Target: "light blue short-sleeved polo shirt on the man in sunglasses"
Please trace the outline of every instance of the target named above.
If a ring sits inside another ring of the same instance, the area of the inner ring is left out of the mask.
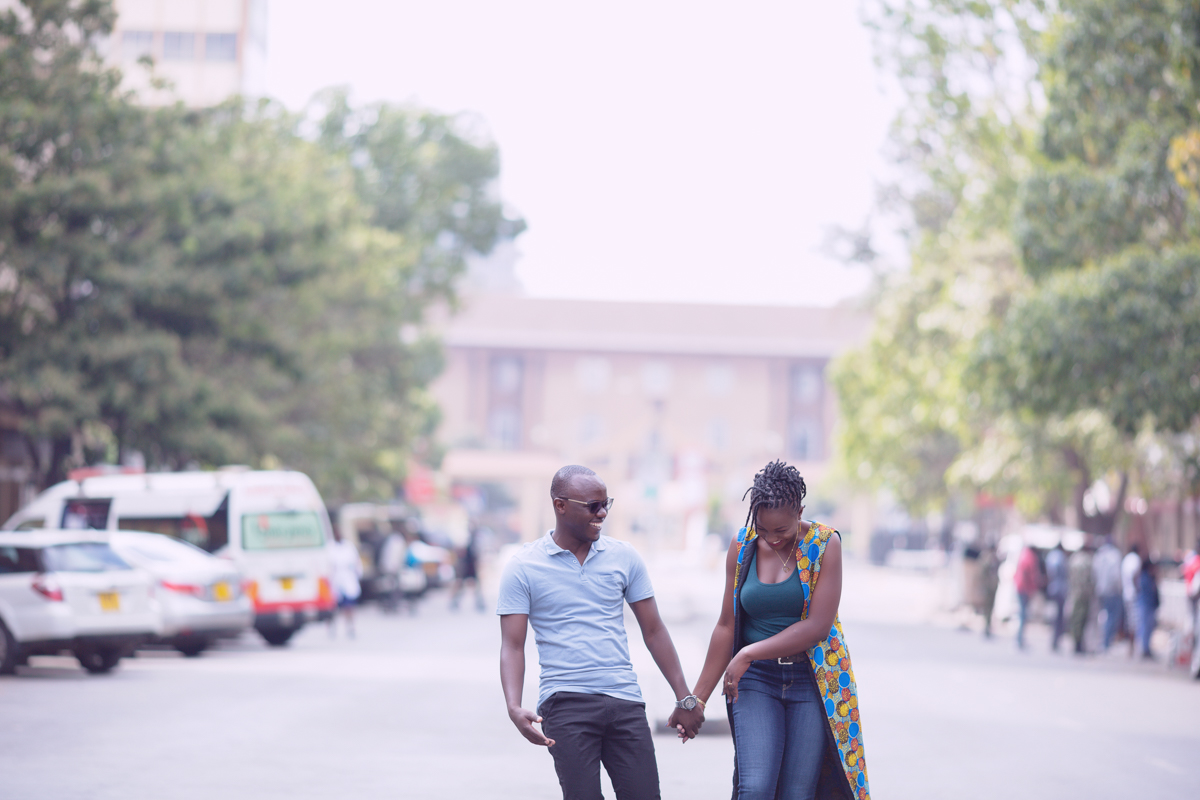
[[[632,545],[601,535],[580,565],[553,531],[526,543],[500,578],[497,614],[528,614],[538,643],[538,705],[554,692],[642,702],[629,661],[625,602],[654,596]]]

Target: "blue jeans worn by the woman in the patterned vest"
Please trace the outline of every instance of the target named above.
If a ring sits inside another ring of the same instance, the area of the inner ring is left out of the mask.
[[[811,667],[751,662],[731,708],[738,800],[814,798],[829,742],[829,720]]]

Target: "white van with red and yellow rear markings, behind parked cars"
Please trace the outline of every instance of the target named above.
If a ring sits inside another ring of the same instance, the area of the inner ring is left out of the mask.
[[[272,645],[286,644],[306,621],[329,619],[336,607],[329,515],[302,473],[222,469],[64,481],[4,524],[35,528],[144,530],[228,558],[246,578],[254,627]]]

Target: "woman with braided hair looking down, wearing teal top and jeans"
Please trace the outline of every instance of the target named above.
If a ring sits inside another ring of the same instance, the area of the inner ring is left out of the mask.
[[[838,621],[840,535],[802,518],[805,493],[799,471],[782,462],[755,475],[694,692],[707,700],[721,682],[736,800],[870,798],[858,690]]]

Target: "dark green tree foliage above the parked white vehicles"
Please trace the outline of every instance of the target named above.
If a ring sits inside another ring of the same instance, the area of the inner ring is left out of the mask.
[[[436,420],[425,311],[522,227],[494,146],[344,95],[312,136],[270,102],[144,108],[96,54],[112,23],[0,13],[0,402],[42,480],[139,451],[390,494]]]

